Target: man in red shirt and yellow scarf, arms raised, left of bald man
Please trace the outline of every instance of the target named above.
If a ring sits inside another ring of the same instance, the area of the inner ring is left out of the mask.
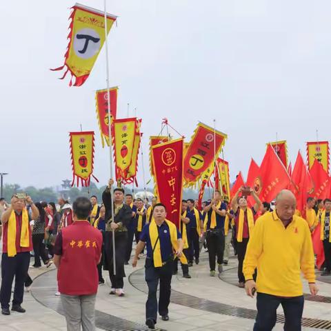
[[[234,212],[234,225],[236,227],[239,288],[245,287],[243,259],[245,259],[248,239],[250,239],[250,234],[254,228],[254,216],[261,208],[261,201],[252,188],[250,188],[250,195],[254,198],[255,204],[253,208],[248,208],[245,197],[239,197],[239,194],[243,191],[244,188],[241,186],[231,201]]]

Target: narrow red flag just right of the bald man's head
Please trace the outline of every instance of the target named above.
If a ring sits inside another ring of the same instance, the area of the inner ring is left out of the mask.
[[[310,192],[312,188],[313,186],[310,174],[308,173],[307,167],[303,162],[301,152],[298,152],[297,160],[295,161],[292,173],[290,190],[292,190],[297,199],[297,209],[300,210],[303,217],[305,217],[308,192]]]

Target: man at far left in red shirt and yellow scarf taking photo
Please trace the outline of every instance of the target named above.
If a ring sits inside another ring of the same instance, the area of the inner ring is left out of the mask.
[[[32,250],[30,216],[28,210],[26,210],[26,204],[31,207],[32,219],[37,219],[39,210],[31,198],[19,199],[17,195],[12,197],[10,208],[3,212],[1,217],[3,224],[3,248],[0,301],[1,313],[3,315],[10,315],[9,302],[14,276],[15,289],[12,310],[26,312],[21,307],[21,303],[23,302],[24,282],[28,277],[30,251]]]

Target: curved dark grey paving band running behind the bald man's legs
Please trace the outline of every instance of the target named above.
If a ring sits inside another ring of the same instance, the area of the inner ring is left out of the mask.
[[[143,275],[144,268],[132,272],[129,276],[129,282],[132,286],[134,286],[134,288],[137,288],[137,290],[148,293],[148,288]],[[240,317],[242,319],[255,319],[257,316],[257,310],[239,308],[226,303],[202,299],[194,297],[190,294],[178,292],[176,290],[171,291],[170,301],[172,303],[176,303],[177,305],[184,305],[185,307],[204,310],[206,312],[214,312],[216,314]],[[281,314],[277,314],[277,323],[285,323],[285,317]],[[326,321],[323,319],[309,319],[307,317],[303,317],[301,325],[308,328],[331,330],[331,321]]]

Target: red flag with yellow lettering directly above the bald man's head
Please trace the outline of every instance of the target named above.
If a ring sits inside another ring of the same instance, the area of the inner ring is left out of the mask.
[[[260,166],[261,201],[272,201],[279,191],[288,187],[290,177],[281,159],[271,145],[268,145]]]

